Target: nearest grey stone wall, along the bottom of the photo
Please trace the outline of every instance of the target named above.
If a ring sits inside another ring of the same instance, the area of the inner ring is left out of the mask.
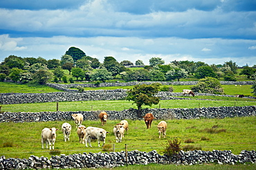
[[[1,156],[0,169],[81,169],[113,168],[125,164],[245,164],[256,163],[255,151],[241,151],[239,155],[231,151],[180,151],[173,158],[161,156],[156,151],[125,151],[110,153],[79,153],[66,156],[30,156],[28,159]]]

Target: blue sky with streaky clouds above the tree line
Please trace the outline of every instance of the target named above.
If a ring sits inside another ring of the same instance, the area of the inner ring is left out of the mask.
[[[256,0],[1,0],[0,62],[61,59],[69,47],[104,61],[152,57],[256,65]]]

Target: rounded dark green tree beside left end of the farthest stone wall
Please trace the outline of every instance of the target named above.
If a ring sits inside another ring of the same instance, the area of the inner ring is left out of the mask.
[[[39,83],[40,85],[45,85],[48,80],[51,80],[53,74],[48,70],[38,70],[33,74],[33,81]]]

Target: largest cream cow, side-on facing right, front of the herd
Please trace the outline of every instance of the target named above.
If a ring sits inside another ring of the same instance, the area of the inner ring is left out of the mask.
[[[85,146],[87,146],[87,142],[89,142],[89,145],[91,147],[91,139],[98,139],[98,147],[100,147],[100,141],[103,141],[103,145],[106,141],[106,134],[109,134],[108,131],[105,131],[102,128],[99,127],[87,127],[85,130]]]

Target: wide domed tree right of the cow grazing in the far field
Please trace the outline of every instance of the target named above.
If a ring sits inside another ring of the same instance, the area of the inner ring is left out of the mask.
[[[217,78],[205,77],[199,80],[195,86],[191,87],[193,92],[208,93],[208,94],[223,94],[221,83]]]

